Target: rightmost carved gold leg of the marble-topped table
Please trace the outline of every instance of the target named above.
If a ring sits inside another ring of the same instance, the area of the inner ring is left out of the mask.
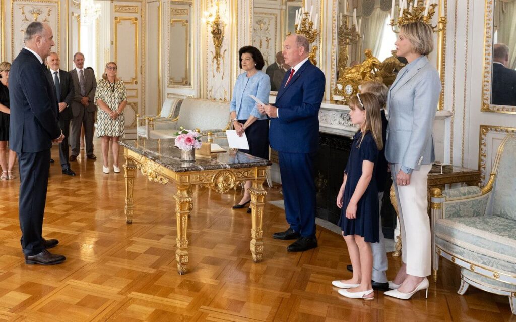
[[[251,253],[254,263],[262,262],[263,254],[263,206],[267,191],[263,189],[263,179],[254,179],[253,186],[249,188],[251,193]]]

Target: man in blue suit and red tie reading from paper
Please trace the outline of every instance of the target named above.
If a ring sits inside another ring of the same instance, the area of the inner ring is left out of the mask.
[[[319,109],[325,76],[308,59],[310,43],[301,35],[285,39],[283,57],[292,66],[278,89],[275,106],[260,106],[270,117],[270,147],[278,151],[286,220],[290,227],[272,235],[297,239],[287,247],[302,252],[317,247],[314,159],[319,144]]]

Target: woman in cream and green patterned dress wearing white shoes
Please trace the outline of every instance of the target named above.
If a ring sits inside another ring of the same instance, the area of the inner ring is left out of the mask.
[[[101,138],[103,172],[109,173],[108,153],[109,141],[113,155],[113,170],[120,172],[118,167],[118,154],[120,146],[118,141],[125,134],[124,109],[127,105],[127,93],[124,82],[117,78],[117,64],[109,62],[99,81],[95,93],[95,102],[98,108],[97,136]]]

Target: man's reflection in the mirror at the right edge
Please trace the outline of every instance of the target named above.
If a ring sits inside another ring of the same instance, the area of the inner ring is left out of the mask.
[[[509,65],[509,47],[503,43],[493,46],[493,87],[491,104],[516,106],[516,70]]]

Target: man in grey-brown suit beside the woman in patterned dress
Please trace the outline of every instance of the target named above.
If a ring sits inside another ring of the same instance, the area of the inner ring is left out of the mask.
[[[75,161],[80,152],[80,127],[84,125],[86,158],[96,160],[93,154],[93,128],[95,126],[94,104],[96,80],[93,71],[84,68],[84,55],[75,53],[73,55],[75,68],[70,71],[75,95],[72,102],[72,130],[71,145],[72,155],[70,161]]]

